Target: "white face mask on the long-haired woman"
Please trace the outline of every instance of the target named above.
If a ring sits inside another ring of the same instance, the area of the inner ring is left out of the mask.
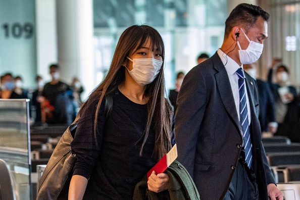
[[[133,62],[132,70],[128,70],[130,76],[137,82],[139,85],[146,85],[152,83],[154,79],[159,74],[163,61],[156,59],[130,59]]]

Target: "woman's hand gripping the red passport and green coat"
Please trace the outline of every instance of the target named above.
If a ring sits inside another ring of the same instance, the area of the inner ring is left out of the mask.
[[[161,192],[168,189],[168,174],[158,174],[156,175],[155,171],[152,172],[151,176],[148,179],[148,189],[154,192]]]

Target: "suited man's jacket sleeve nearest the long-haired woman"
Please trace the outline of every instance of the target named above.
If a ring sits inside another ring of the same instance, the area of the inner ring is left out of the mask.
[[[204,76],[194,67],[184,77],[177,98],[175,138],[178,161],[193,177],[196,143],[206,107],[206,83]]]

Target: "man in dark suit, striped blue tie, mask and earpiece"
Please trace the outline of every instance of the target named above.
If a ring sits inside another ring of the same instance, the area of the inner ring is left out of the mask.
[[[178,161],[201,199],[283,199],[261,142],[257,85],[242,70],[259,59],[268,18],[260,7],[238,5],[226,20],[221,48],[183,80],[175,118]]]

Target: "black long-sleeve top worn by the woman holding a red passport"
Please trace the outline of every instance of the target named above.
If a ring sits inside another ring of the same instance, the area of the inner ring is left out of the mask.
[[[119,90],[112,94],[113,109],[105,119],[102,102],[94,138],[94,113],[100,94],[84,108],[71,143],[77,155],[73,175],[89,178],[84,199],[132,199],[137,182],[155,164],[151,156],[155,133],[152,124],[139,156],[147,121],[147,105],[135,104]],[[97,143],[97,145],[96,145]],[[172,145],[175,143],[172,129]]]

